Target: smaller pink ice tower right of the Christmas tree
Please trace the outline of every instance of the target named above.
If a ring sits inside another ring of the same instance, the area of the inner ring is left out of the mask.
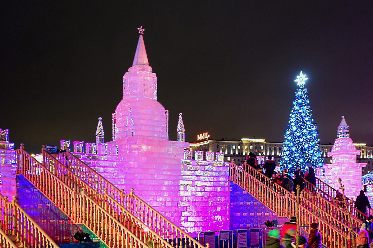
[[[332,151],[327,155],[332,157],[332,164],[325,164],[323,167],[330,186],[339,189],[338,178],[340,177],[345,186],[345,195],[349,198],[356,198],[361,190],[361,168],[367,164],[356,162],[356,156],[360,155],[360,151],[356,150],[350,138],[350,126],[347,126],[344,116],[338,126],[338,135]]]

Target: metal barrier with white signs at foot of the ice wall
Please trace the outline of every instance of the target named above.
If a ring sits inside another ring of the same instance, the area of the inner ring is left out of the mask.
[[[261,228],[200,232],[197,241],[209,243],[210,248],[264,248],[264,232]]]

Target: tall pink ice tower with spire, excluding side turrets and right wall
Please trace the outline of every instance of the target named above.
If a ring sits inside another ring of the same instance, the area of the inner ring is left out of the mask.
[[[181,216],[181,160],[189,143],[168,140],[168,111],[157,102],[157,76],[142,35],[132,67],[123,76],[123,99],[113,113],[112,131],[113,141],[105,144],[117,147],[120,161],[107,159],[90,166],[125,193],[134,188],[151,206]]]

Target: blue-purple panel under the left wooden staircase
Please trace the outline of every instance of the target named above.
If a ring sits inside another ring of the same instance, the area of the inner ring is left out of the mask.
[[[58,207],[36,189],[23,175],[17,175],[18,204],[50,236],[56,244],[70,244],[75,232],[86,232],[94,242],[98,239],[86,226],[72,222]],[[100,242],[100,248],[107,248]]]

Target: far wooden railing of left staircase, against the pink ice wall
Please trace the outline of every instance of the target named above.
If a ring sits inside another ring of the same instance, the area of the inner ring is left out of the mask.
[[[177,244],[173,243],[173,240],[175,238],[180,238],[184,240],[185,244],[189,244],[189,247],[193,242],[196,248],[204,248],[197,240],[135,195],[133,189],[131,189],[131,193],[129,194],[123,194],[123,190],[119,190],[69,151],[55,154],[53,157],[56,157],[58,161],[62,162],[73,174],[81,178],[81,180],[87,183],[91,188],[97,190],[97,193],[107,193],[113,200],[116,200],[116,202],[124,206],[142,223],[145,223],[145,225],[153,229],[153,231],[158,232],[164,239],[171,241],[173,246],[177,246]],[[107,188],[107,191],[105,188]]]

